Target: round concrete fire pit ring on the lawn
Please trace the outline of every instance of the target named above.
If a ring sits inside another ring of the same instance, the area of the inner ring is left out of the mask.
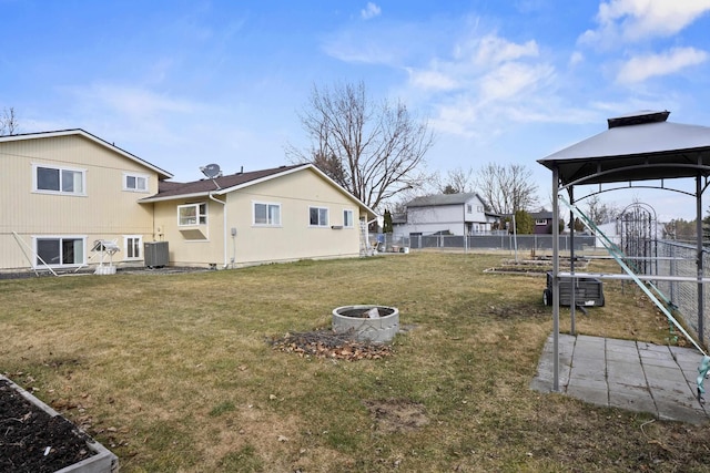
[[[343,306],[333,309],[333,331],[353,331],[361,341],[390,341],[399,330],[399,310],[386,306]]]

